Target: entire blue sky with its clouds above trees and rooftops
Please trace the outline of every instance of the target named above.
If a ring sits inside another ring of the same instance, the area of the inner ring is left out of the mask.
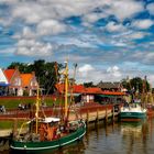
[[[154,0],[0,0],[0,67],[68,58],[77,81],[154,86]]]

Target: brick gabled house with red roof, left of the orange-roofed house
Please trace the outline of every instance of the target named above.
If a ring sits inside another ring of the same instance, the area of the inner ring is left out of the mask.
[[[18,68],[3,70],[9,82],[9,95],[22,96],[21,77]]]

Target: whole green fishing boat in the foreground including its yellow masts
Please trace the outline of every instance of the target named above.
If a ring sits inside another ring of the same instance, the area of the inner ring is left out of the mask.
[[[22,124],[19,133],[11,141],[12,151],[22,151],[25,153],[44,152],[44,150],[54,150],[69,145],[82,139],[86,133],[86,124],[82,120],[68,120],[67,106],[67,88],[68,88],[68,66],[65,68],[65,116],[57,117],[40,117],[40,98],[35,103],[35,117]],[[28,131],[22,133],[25,125]]]

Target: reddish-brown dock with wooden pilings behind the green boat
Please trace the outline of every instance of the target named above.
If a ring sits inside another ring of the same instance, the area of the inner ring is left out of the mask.
[[[44,113],[47,117],[58,117],[59,108],[45,108]],[[84,106],[76,106],[70,108],[69,111],[69,121],[76,119],[82,119],[88,123],[96,122],[98,123],[100,120],[103,120],[108,123],[108,119],[114,121],[114,117],[118,117],[119,112],[114,112],[113,105],[98,105],[98,103],[89,103]],[[0,121],[13,121],[14,125],[18,120],[30,120],[30,118],[34,116],[30,110],[21,111],[21,110],[10,110],[6,113],[0,114]],[[0,130],[0,138],[8,138],[14,131],[14,128]]]

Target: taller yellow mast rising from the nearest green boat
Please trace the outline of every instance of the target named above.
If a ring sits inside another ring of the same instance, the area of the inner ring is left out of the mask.
[[[65,118],[67,118],[68,111],[68,63],[65,66]]]

